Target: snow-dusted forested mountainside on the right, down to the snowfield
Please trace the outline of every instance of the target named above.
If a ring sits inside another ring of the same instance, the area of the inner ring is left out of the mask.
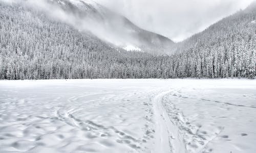
[[[254,78],[256,2],[174,45],[183,77]]]

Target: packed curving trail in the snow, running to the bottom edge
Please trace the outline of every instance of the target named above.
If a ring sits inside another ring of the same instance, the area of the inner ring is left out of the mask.
[[[178,127],[170,120],[168,113],[162,105],[163,96],[168,93],[170,91],[162,92],[153,99],[156,121],[156,144],[154,152],[183,153],[186,152],[183,138],[179,134]]]

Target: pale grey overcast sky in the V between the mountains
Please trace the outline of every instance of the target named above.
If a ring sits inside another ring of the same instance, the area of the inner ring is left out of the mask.
[[[210,24],[253,0],[94,0],[118,12],[139,27],[176,42],[206,29]]]

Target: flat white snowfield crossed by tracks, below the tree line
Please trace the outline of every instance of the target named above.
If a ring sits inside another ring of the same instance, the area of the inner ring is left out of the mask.
[[[0,81],[0,152],[255,152],[256,80]]]

